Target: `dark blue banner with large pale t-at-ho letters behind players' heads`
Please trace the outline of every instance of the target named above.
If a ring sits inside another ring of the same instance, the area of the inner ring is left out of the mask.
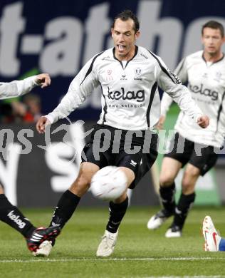
[[[124,9],[140,20],[137,44],[161,56],[171,70],[182,57],[202,49],[206,21],[217,19],[225,25],[222,0],[1,0],[0,81],[49,73],[51,88],[44,94],[38,88],[34,92],[41,95],[43,113],[50,112],[81,66],[112,47],[110,25]],[[71,117],[97,119],[100,94],[97,88]]]

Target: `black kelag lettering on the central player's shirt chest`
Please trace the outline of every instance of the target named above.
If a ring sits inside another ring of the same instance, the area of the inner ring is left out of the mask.
[[[108,98],[112,100],[136,100],[138,103],[145,101],[145,90],[128,91],[125,92],[125,88],[121,88],[121,91],[112,91],[110,92],[110,88],[108,87]]]

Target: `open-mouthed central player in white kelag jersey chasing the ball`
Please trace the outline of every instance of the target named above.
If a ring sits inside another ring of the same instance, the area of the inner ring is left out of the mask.
[[[196,121],[202,128],[209,124],[209,118],[203,115],[187,88],[168,71],[161,58],[135,45],[140,31],[139,22],[132,11],[123,11],[116,16],[111,31],[115,47],[91,58],[75,76],[61,103],[36,124],[38,132],[43,133],[46,125],[65,118],[85,101],[93,88],[101,86],[100,120],[83,149],[85,155],[78,177],[61,196],[51,220],[51,225],[61,228],[73,215],[80,197],[88,191],[93,175],[100,168],[117,166],[125,173],[127,188],[134,188],[151,168],[157,157],[157,134],[152,132],[160,115],[157,86],[177,101],[192,118],[190,120]],[[148,139],[151,135],[152,139],[145,140],[145,135]],[[147,147],[145,141],[148,142]],[[107,144],[108,148],[105,148]],[[145,152],[144,145],[147,148]],[[98,152],[99,148],[102,151]],[[134,149],[138,150],[134,152]],[[127,190],[110,202],[110,218],[96,253],[98,257],[112,254],[127,205]]]

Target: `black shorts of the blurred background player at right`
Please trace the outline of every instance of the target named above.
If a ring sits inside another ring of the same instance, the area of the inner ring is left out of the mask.
[[[199,168],[200,174],[204,175],[214,165],[218,155],[214,152],[214,147],[194,143],[183,138],[179,133],[175,133],[170,141],[170,153],[164,155],[165,158],[174,158],[182,163],[182,167],[187,163]]]

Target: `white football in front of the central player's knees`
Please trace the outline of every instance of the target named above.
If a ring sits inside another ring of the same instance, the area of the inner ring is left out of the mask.
[[[90,183],[90,191],[101,200],[115,200],[125,192],[127,177],[116,166],[106,166],[98,170]]]

